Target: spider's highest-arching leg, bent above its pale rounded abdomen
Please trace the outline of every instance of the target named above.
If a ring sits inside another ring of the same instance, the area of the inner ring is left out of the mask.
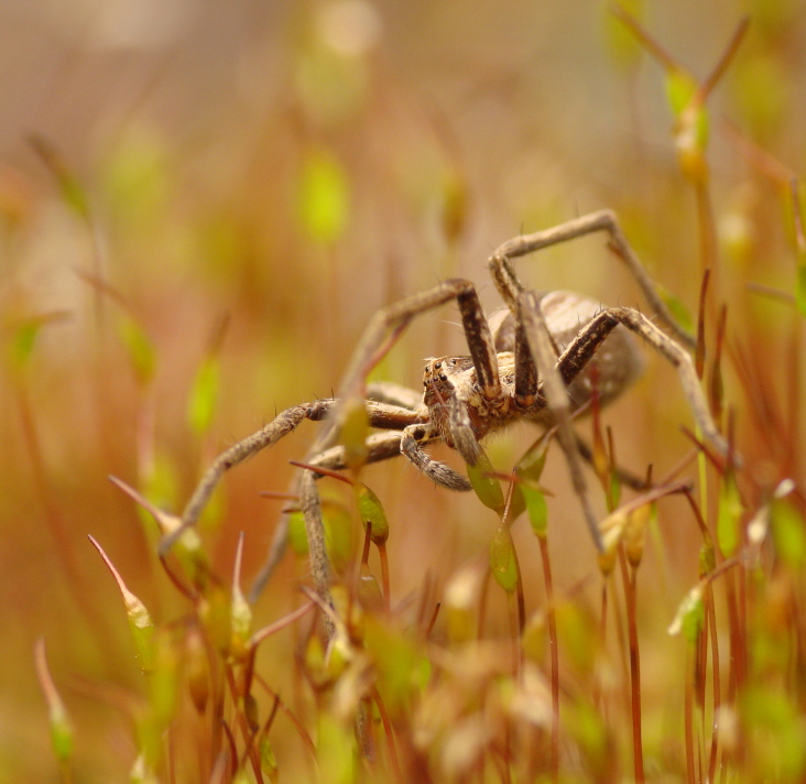
[[[646,302],[652,306],[658,318],[674,333],[680,342],[689,348],[694,348],[696,340],[679,325],[666,303],[661,298],[654,281],[650,277],[641,260],[628,242],[616,213],[609,209],[584,215],[580,218],[568,220],[545,231],[515,237],[504,242],[490,257],[488,265],[492,274],[492,280],[501,294],[501,298],[507,303],[510,311],[512,313],[515,312],[518,297],[524,292],[524,286],[512,265],[512,259],[596,231],[607,231],[610,238],[610,247],[627,264],[627,268],[646,297]]]

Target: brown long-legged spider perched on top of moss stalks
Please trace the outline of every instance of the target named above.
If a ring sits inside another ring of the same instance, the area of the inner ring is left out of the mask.
[[[627,264],[666,331],[630,307],[602,308],[571,292],[538,295],[515,274],[513,259],[584,235],[606,231],[610,248]],[[162,543],[165,553],[182,532],[194,525],[226,470],[274,445],[303,420],[325,421],[305,464],[340,470],[350,459],[338,444],[340,429],[356,406],[363,406],[370,426],[381,432],[366,440],[366,462],[405,456],[426,477],[449,490],[471,489],[466,477],[432,459],[425,448],[442,440],[465,461],[476,465],[479,442],[516,421],[556,425],[574,489],[593,542],[601,548],[598,521],[590,505],[580,451],[570,416],[591,400],[592,360],[601,403],[621,394],[640,374],[642,338],[678,371],[683,392],[706,440],[720,454],[728,445],[717,429],[702,394],[690,350],[694,338],[674,319],[655,285],[628,243],[616,215],[601,210],[553,229],[520,236],[502,244],[489,259],[492,280],[507,308],[487,319],[472,283],[448,280],[433,288],[379,311],[356,348],[336,399],[302,403],[283,411],[257,433],[224,451],[202,478],[182,516],[182,525]],[[423,394],[394,384],[368,388],[367,375],[417,316],[456,301],[469,356],[427,361]],[[540,371],[538,371],[540,368]],[[295,482],[305,516],[314,582],[328,595],[329,567],[325,551],[319,496],[314,470],[302,470]],[[287,523],[287,511],[284,514]],[[284,549],[285,527],[275,533],[271,556],[255,582],[253,596]]]

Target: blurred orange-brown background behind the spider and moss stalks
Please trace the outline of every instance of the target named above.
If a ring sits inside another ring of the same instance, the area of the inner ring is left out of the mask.
[[[776,301],[748,283],[792,288],[782,183],[806,163],[806,4],[631,10],[697,80],[750,14],[709,96],[708,189],[717,302],[731,303],[729,331],[753,379],[729,373],[728,396],[754,476],[770,484],[782,459],[803,464],[758,436],[766,420],[742,413],[747,390],[778,401],[797,440],[803,379],[791,378]],[[109,781],[133,759],[127,706],[141,676],[87,534],[159,620],[184,611],[154,531],[109,475],[181,510],[222,448],[331,394],[379,307],[461,275],[492,311],[491,251],[591,210],[614,209],[653,276],[696,314],[702,214],[675,148],[665,69],[603,2],[4,0],[0,31],[0,781],[53,776],[32,663],[40,636],[77,722],[80,780]],[[603,238],[519,270],[537,290],[646,307]],[[377,377],[417,389],[424,358],[465,352],[457,320],[451,306],[420,318]],[[653,462],[662,476],[690,446],[679,431],[690,416],[674,372],[647,360],[606,421],[625,466]],[[280,505],[258,493],[285,490],[287,461],[316,427],[228,478],[203,534],[220,574],[240,531],[244,581],[261,565]],[[509,470],[534,437],[523,427],[497,438],[493,464]],[[428,575],[444,585],[483,564],[495,518],[477,499],[401,460],[366,479],[392,523],[396,601]],[[595,553],[556,455],[545,484],[557,590],[578,590]],[[696,579],[684,511],[663,507],[655,543],[679,570],[644,577],[660,635]],[[538,556],[525,529],[514,533],[532,609]],[[304,570],[286,559],[255,608],[262,622],[294,606]],[[290,645],[261,654],[270,680]]]

